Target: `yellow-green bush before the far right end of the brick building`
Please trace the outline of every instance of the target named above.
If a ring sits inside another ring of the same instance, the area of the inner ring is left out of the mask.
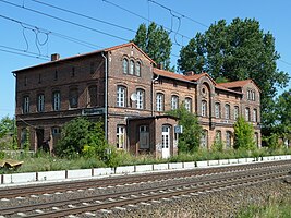
[[[234,123],[234,145],[235,149],[242,148],[253,150],[256,148],[254,141],[254,128],[247,123],[243,117],[239,117]]]

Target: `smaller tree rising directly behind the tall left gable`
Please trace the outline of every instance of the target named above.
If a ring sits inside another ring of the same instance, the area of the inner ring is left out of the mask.
[[[165,70],[170,70],[172,43],[168,32],[162,26],[157,26],[156,23],[151,22],[147,28],[146,24],[141,24],[132,41],[157,64],[161,63]]]

